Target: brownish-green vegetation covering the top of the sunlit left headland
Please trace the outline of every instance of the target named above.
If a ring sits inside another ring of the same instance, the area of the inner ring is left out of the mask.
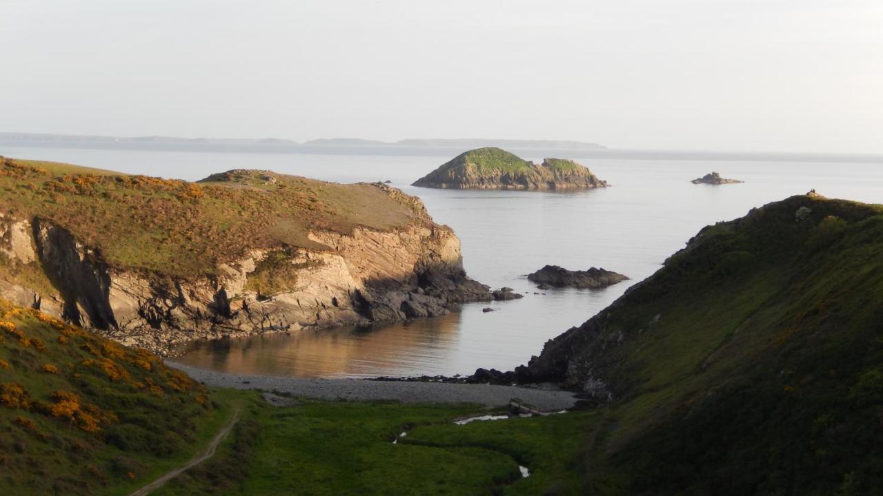
[[[253,249],[323,248],[309,239],[311,230],[350,233],[358,226],[389,230],[431,222],[418,204],[373,184],[256,170],[188,183],[4,158],[0,211],[64,226],[111,267],[171,276],[213,274],[219,263]],[[41,272],[0,270],[31,288],[35,283],[27,278]]]

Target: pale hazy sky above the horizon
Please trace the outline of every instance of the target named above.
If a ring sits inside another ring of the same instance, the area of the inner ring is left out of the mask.
[[[0,132],[883,153],[881,0],[0,0]]]

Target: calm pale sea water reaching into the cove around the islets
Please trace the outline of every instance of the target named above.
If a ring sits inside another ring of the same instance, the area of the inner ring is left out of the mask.
[[[224,372],[271,375],[453,375],[479,366],[509,370],[539,354],[548,339],[592,317],[631,283],[653,274],[707,224],[813,188],[832,198],[883,203],[883,165],[873,163],[583,160],[612,187],[554,193],[409,186],[449,157],[20,147],[0,147],[0,154],[190,180],[226,169],[272,169],[337,182],[389,179],[423,199],[436,222],[457,232],[473,278],[529,293],[521,300],[490,304],[497,312],[481,312],[488,304],[466,304],[438,319],[370,330],[193,342],[180,358]],[[745,184],[690,183],[713,170]],[[632,280],[596,291],[540,291],[524,274],[546,264],[604,267]]]

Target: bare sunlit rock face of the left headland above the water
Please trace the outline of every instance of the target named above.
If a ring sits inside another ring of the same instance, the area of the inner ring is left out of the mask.
[[[376,187],[417,220],[389,230],[309,229],[315,248],[254,249],[213,273],[182,276],[112,266],[67,226],[3,213],[0,297],[161,353],[200,337],[434,317],[494,298],[466,276],[451,229],[433,223],[419,199]],[[269,261],[285,267],[283,290],[255,283]]]

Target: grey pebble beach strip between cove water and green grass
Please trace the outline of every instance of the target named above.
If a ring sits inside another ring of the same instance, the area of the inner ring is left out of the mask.
[[[489,384],[447,384],[388,380],[303,379],[266,375],[238,375],[215,372],[166,361],[170,367],[187,372],[210,387],[263,389],[322,400],[353,402],[392,400],[399,402],[477,403],[487,407],[505,405],[520,398],[540,410],[563,410],[577,401],[573,394],[557,389],[493,386]]]

